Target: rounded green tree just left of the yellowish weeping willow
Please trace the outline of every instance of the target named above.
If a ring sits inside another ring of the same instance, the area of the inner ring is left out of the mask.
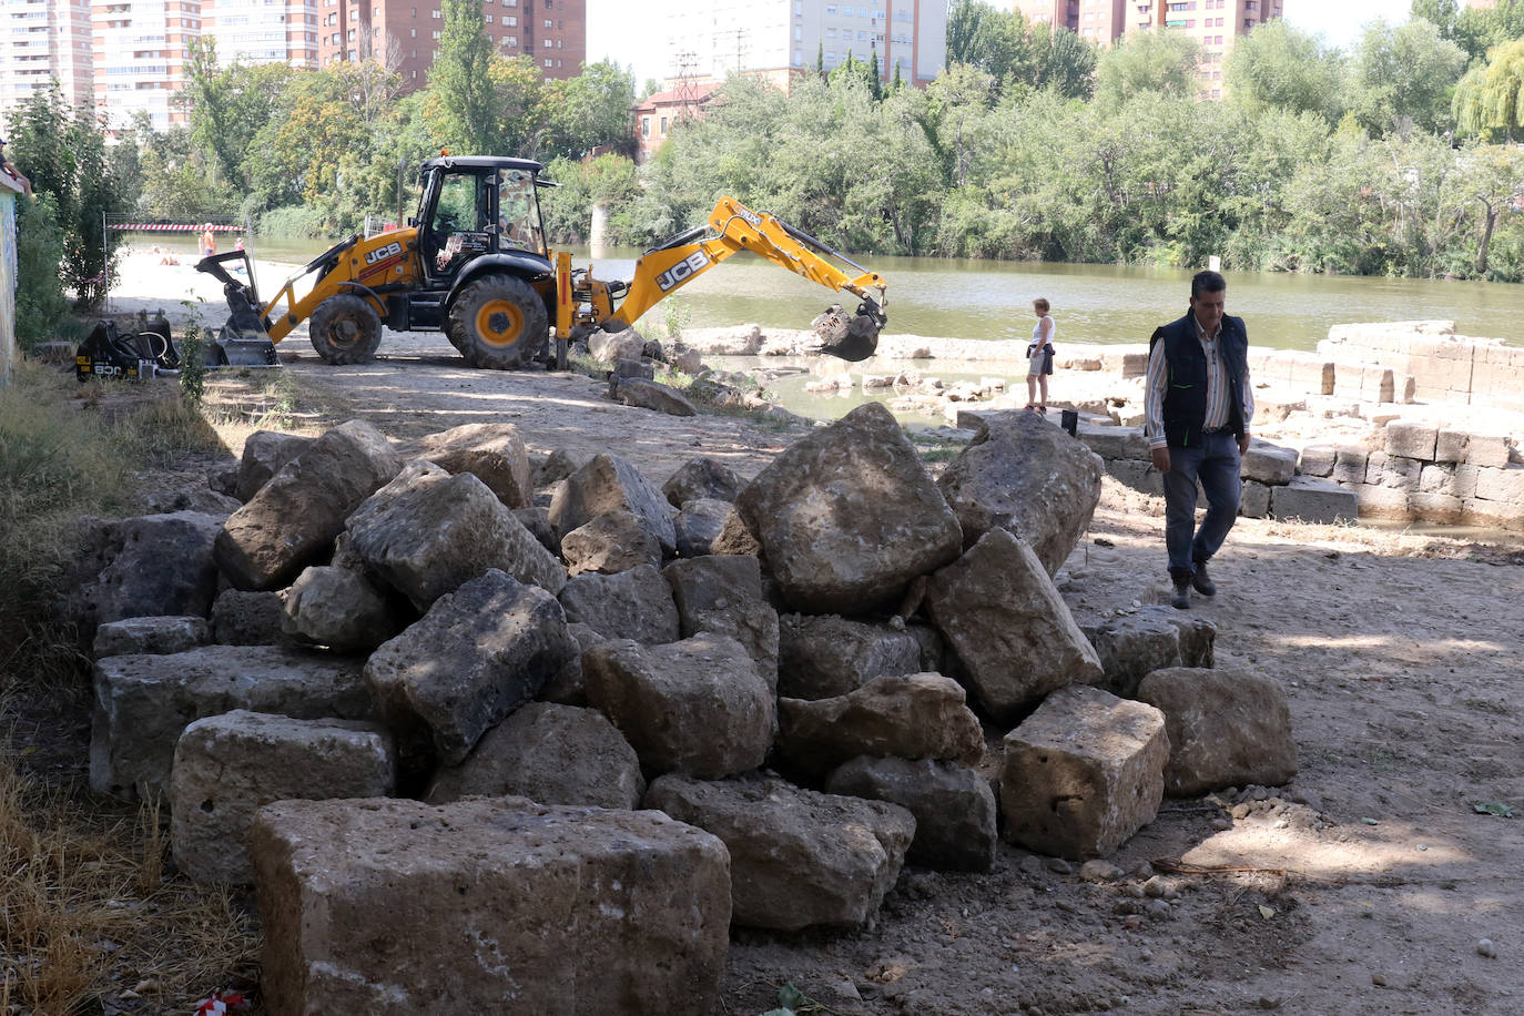
[[[1350,111],[1378,136],[1408,125],[1448,131],[1454,123],[1451,88],[1465,69],[1465,50],[1440,38],[1430,21],[1411,20],[1394,29],[1372,21],[1355,50]]]

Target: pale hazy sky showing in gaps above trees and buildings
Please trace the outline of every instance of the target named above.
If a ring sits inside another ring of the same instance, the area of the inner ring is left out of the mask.
[[[994,0],[998,3],[1000,0]],[[663,79],[660,0],[587,0],[587,59],[613,59],[636,69],[636,87]],[[1373,18],[1401,23],[1410,0],[1283,0],[1282,15],[1300,29],[1317,30],[1334,46],[1349,47]]]

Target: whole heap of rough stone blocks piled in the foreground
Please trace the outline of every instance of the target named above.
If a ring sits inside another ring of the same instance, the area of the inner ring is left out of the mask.
[[[876,404],[660,489],[507,425],[261,436],[229,516],[102,527],[91,783],[255,882],[279,1011],[710,1011],[732,925],[856,928],[907,862],[1096,858],[1295,771],[1210,625],[1076,625],[1100,477],[1007,413],[933,481]]]

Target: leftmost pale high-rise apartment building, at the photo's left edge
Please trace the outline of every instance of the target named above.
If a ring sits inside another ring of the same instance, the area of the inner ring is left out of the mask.
[[[70,107],[91,105],[90,0],[0,0],[0,110],[53,81]]]

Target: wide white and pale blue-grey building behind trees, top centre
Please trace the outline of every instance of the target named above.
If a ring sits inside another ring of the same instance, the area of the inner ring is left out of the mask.
[[[879,75],[924,85],[946,62],[948,0],[672,0],[666,64],[672,79],[756,75],[779,87],[847,56],[878,55]]]

